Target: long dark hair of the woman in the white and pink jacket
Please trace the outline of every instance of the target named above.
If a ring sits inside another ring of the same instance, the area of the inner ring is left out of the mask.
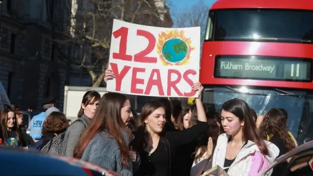
[[[242,140],[245,142],[247,140],[255,142],[261,153],[268,155],[268,147],[256,127],[256,123],[251,115],[250,107],[244,100],[238,98],[228,100],[222,106],[222,110],[236,115],[240,121],[244,120],[245,125],[243,127]]]

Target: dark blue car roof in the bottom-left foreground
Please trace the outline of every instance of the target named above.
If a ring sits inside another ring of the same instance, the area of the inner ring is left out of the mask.
[[[1,171],[1,175],[90,176],[87,170],[96,171],[99,175],[108,172],[97,165],[79,159],[30,152],[24,149],[0,147],[0,158],[0,166],[5,168]]]

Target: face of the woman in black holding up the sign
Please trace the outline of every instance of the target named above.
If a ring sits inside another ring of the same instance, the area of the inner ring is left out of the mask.
[[[144,121],[147,124],[148,132],[160,133],[162,132],[166,122],[165,110],[158,108],[153,111]]]

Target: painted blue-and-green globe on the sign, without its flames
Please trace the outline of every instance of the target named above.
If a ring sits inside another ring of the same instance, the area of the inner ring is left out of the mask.
[[[187,44],[181,39],[170,39],[162,46],[162,54],[164,58],[171,63],[182,61],[188,52]]]

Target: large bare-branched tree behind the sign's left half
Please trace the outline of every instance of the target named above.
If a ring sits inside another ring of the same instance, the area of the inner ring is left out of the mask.
[[[83,3],[78,3],[78,0],[63,0],[63,3],[68,17],[63,17],[66,22],[62,25],[66,24],[66,28],[71,30],[64,29],[67,39],[56,40],[55,25],[58,24],[51,18],[49,22],[54,31],[51,34],[53,41],[62,60],[87,70],[94,87],[102,83],[108,66],[113,19],[144,25],[160,21],[153,0],[84,0]],[[65,53],[61,48],[64,45],[73,45],[73,53],[76,54]]]

